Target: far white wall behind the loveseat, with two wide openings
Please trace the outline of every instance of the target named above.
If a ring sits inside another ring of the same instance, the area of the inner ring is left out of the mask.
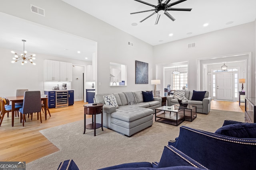
[[[195,48],[187,48],[188,43],[196,42]],[[252,52],[255,63],[255,23],[246,23],[210,33],[154,46],[154,63],[157,64],[157,78],[162,79],[163,63],[188,61],[189,90],[197,89],[197,59]],[[156,57],[157,56],[157,57]],[[252,73],[255,65],[252,64]],[[252,74],[254,75],[254,74]],[[255,82],[255,76],[252,76]],[[253,85],[254,86],[254,85]],[[163,88],[163,87],[162,87]],[[252,88],[252,97],[255,89]]]

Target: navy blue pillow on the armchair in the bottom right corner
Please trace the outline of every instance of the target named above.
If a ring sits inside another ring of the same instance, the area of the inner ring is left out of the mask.
[[[236,138],[256,138],[256,123],[236,123],[220,127],[215,133]]]

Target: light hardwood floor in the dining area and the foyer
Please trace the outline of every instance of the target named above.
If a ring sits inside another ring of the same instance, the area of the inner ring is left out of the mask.
[[[47,120],[44,120],[42,116],[42,123],[36,120],[36,115],[34,115],[32,121],[27,119],[24,127],[19,117],[15,117],[14,127],[12,127],[11,116],[5,115],[0,127],[0,161],[26,161],[28,163],[58,151],[59,149],[39,131],[83,120],[84,104],[84,102],[75,102],[73,106],[50,109],[51,117],[47,115]],[[239,106],[238,102],[212,100],[211,109],[244,112],[244,103]]]

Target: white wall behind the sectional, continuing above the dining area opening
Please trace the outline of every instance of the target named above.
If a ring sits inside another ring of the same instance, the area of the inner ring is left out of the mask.
[[[45,17],[30,12],[30,4],[45,9]],[[135,84],[135,61],[148,63],[149,80],[154,79],[153,47],[140,39],[74,8],[61,0],[12,0],[1,3],[0,12],[46,25],[98,43],[97,92],[152,90],[149,84]],[[128,41],[134,47],[128,45]],[[109,63],[127,65],[127,86],[109,86]],[[99,86],[101,84],[101,86]]]

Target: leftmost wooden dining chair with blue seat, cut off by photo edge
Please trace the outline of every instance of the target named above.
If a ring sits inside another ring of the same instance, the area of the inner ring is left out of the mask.
[[[20,105],[15,105],[14,111],[18,111],[20,109]],[[2,125],[2,121],[4,119],[5,113],[7,113],[7,117],[9,117],[9,112],[12,111],[12,105],[8,105],[8,100],[4,97],[0,97],[0,126]]]

